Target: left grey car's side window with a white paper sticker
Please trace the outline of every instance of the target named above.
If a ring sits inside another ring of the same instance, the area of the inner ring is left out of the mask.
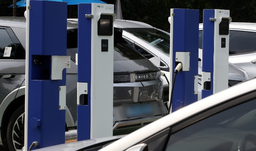
[[[5,29],[0,29],[0,59],[14,59],[16,47]]]

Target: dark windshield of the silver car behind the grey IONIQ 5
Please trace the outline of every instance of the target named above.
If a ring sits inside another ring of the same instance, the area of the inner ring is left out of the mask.
[[[142,39],[166,54],[170,55],[170,35],[154,28],[125,28],[124,31]]]

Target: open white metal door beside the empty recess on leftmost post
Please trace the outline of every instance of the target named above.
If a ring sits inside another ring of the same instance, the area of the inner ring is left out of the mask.
[[[70,68],[70,56],[52,56],[52,80],[62,80],[62,71]]]

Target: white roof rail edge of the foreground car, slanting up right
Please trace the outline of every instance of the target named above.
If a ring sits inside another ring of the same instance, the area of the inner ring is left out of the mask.
[[[196,116],[204,111],[211,109],[212,107],[219,106],[223,103],[232,101],[242,95],[256,91],[256,78],[242,82],[219,93],[211,95],[200,101],[185,106],[159,120],[146,125],[139,130],[130,133],[129,135],[109,144],[99,151],[112,151],[114,150],[125,150],[133,145],[136,145],[146,138],[149,138],[156,133],[159,133],[166,128],[172,127],[182,121],[189,120],[191,117]],[[228,95],[227,95],[228,94]]]

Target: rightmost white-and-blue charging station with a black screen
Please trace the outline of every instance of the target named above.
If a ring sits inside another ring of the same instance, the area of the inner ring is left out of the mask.
[[[229,10],[203,10],[202,98],[228,88]]]

